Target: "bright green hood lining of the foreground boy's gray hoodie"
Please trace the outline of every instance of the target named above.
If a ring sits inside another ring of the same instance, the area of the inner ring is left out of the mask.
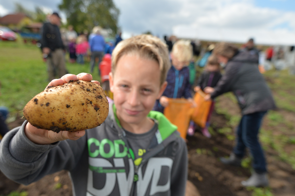
[[[122,126],[120,125],[120,121],[117,118],[117,114],[116,114],[117,108],[115,104],[113,104],[113,111],[114,111],[114,117],[118,126],[122,128]],[[158,129],[160,131],[160,134],[163,140],[168,138],[174,131],[177,130],[177,126],[172,124],[161,112],[150,111],[150,113],[148,114],[148,117],[158,121]]]

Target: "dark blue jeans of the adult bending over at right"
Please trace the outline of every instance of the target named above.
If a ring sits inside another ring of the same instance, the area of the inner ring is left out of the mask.
[[[256,112],[243,115],[237,128],[237,139],[234,153],[237,157],[242,158],[245,148],[250,149],[253,156],[253,169],[256,173],[266,172],[266,161],[263,150],[258,141],[258,132],[262,118],[266,112]]]

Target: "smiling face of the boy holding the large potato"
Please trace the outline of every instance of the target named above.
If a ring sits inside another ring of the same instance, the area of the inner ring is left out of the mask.
[[[119,120],[137,125],[147,119],[167,85],[167,82],[160,85],[157,61],[132,54],[119,59],[114,75],[109,75],[109,82]]]

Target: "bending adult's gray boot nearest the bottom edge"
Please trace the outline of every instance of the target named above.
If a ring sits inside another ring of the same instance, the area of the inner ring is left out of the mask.
[[[256,172],[253,172],[251,177],[241,182],[244,187],[267,187],[268,186],[268,179],[267,174],[262,173],[258,174]]]

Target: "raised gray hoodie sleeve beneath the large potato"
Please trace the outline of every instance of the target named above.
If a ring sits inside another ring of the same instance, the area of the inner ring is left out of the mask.
[[[24,133],[27,121],[9,131],[0,143],[0,169],[10,179],[28,185],[47,174],[76,167],[86,146],[86,137],[38,145]]]

